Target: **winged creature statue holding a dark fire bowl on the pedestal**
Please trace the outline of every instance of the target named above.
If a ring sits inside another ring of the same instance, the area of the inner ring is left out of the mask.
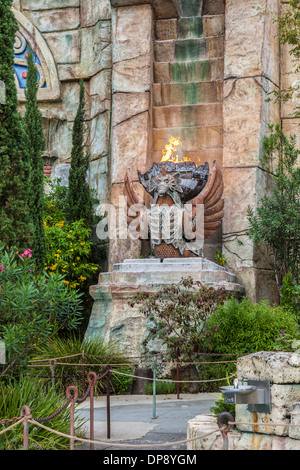
[[[208,163],[154,163],[145,174],[138,172],[138,178],[150,195],[149,207],[129,169],[124,185],[127,222],[137,238],[150,239],[161,259],[203,256],[204,240],[215,234],[224,216],[223,175],[217,162],[211,171]]]

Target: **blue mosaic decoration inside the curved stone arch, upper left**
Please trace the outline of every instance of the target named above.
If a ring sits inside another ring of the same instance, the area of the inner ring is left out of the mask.
[[[20,31],[18,31],[16,35],[15,47],[14,47],[14,57],[15,57],[14,70],[15,70],[16,78],[17,78],[20,89],[26,88],[27,71],[28,71],[26,56],[30,52],[30,50],[31,48],[29,44],[27,43],[26,39],[20,33]],[[40,88],[47,88],[47,83],[44,78],[41,62],[38,56],[34,52],[32,53],[33,53],[34,62],[39,72],[39,77],[38,77],[39,86]]]

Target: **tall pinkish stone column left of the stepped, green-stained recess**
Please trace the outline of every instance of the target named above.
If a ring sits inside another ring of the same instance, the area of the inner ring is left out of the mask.
[[[123,181],[130,169],[147,169],[151,130],[151,84],[153,73],[153,11],[145,2],[118,6],[112,1],[112,161],[111,203],[117,208]],[[114,7],[114,5],[116,5]],[[141,187],[138,190],[143,196]],[[111,240],[110,266],[125,258],[138,258],[139,242]]]

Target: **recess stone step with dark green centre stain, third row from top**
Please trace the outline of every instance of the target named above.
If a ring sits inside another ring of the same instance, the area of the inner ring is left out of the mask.
[[[155,62],[190,62],[224,56],[224,37],[155,41]]]

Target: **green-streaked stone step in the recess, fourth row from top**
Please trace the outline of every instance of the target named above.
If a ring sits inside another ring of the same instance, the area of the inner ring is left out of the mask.
[[[194,62],[155,62],[154,83],[209,82],[223,79],[224,59]]]

